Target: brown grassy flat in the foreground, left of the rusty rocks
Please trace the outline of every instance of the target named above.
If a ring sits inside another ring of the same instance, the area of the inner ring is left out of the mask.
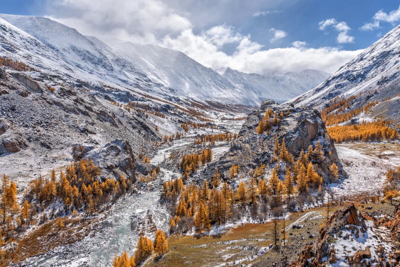
[[[337,209],[346,207],[350,202],[332,206],[329,213],[333,214]],[[380,214],[393,214],[394,206],[385,202],[376,203],[355,203],[357,208],[365,212],[377,212]],[[365,207],[371,206],[372,209]],[[144,266],[215,266],[226,264],[229,266],[240,266],[252,264],[253,266],[268,266],[272,262],[279,262],[282,256],[287,257],[291,262],[296,259],[305,244],[312,244],[319,234],[319,228],[325,218],[320,216],[324,208],[313,208],[305,212],[296,212],[292,218],[286,220],[286,227],[310,211],[315,211],[305,220],[298,222],[304,227],[286,231],[286,247],[280,251],[269,249],[264,254],[259,253],[261,247],[268,247],[273,243],[273,224],[268,223],[246,223],[234,228],[219,236],[191,236],[172,235],[168,238],[168,253],[162,257],[151,257]],[[318,216],[319,215],[319,216]],[[282,221],[279,221],[278,228],[282,228]],[[281,240],[280,240],[281,241]],[[243,260],[244,259],[244,260]]]

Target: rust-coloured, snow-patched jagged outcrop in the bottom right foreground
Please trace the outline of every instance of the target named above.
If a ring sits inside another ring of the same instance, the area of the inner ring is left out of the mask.
[[[389,250],[351,204],[333,213],[317,241],[306,245],[291,266],[394,266]]]

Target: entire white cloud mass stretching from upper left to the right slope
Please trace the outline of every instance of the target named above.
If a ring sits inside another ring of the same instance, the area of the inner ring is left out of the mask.
[[[175,4],[181,6],[179,1]],[[54,0],[49,1],[47,12],[51,18],[83,34],[176,49],[214,69],[229,66],[261,74],[308,68],[333,72],[359,52],[333,47],[307,48],[303,41],[294,41],[291,47],[266,49],[251,40],[250,35],[226,23],[214,23],[199,30],[201,27],[193,23],[190,12],[171,8],[160,0]],[[207,12],[202,10],[202,13]],[[253,11],[247,15],[252,14]],[[286,32],[275,28],[271,33],[272,40],[286,36]],[[229,54],[223,50],[225,44],[233,47]]]

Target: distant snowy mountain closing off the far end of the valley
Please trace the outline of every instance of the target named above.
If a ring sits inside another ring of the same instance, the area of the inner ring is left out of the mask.
[[[251,97],[261,101],[270,98],[277,102],[300,95],[329,76],[329,73],[314,69],[280,75],[247,74],[231,68],[221,68],[218,72]]]

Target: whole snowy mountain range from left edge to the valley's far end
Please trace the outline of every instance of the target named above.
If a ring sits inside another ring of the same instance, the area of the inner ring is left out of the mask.
[[[285,101],[328,76],[317,70],[266,76],[231,69],[218,73],[176,50],[100,40],[44,17],[0,14],[0,40],[0,55],[60,75],[226,104],[255,106],[265,98]]]

